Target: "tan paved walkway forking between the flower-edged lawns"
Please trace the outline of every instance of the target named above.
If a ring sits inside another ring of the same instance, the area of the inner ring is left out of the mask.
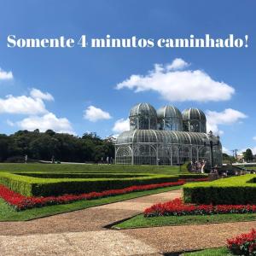
[[[1,255],[160,255],[161,252],[224,246],[226,238],[256,227],[256,221],[134,230],[104,226],[181,195],[173,190],[101,207],[26,222],[0,223]]]

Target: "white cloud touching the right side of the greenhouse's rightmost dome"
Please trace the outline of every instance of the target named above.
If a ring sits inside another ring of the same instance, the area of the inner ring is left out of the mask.
[[[233,125],[245,118],[247,118],[245,113],[232,108],[226,108],[222,112],[207,110],[207,131],[221,135],[223,131],[218,129],[218,125]]]

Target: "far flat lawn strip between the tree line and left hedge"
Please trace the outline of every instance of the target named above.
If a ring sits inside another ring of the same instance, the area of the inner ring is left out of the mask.
[[[122,166],[96,164],[10,164],[0,163],[0,172],[122,172],[148,174],[184,173],[179,166]],[[188,172],[185,172],[188,173]]]

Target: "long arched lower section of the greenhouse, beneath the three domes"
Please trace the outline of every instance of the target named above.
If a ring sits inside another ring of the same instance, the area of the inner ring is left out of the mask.
[[[125,131],[115,144],[115,160],[123,165],[174,166],[186,161],[212,162],[208,145],[217,137],[186,131]],[[222,164],[221,144],[213,147],[216,165]]]

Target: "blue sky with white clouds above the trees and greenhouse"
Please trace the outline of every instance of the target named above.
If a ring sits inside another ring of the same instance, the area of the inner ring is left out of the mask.
[[[106,137],[125,129],[131,106],[150,102],[154,108],[201,108],[224,148],[256,152],[254,1],[1,0],[0,5],[1,133],[38,127]],[[249,38],[248,47],[240,49],[11,49],[9,34],[76,40],[82,34]],[[172,68],[177,61],[181,66]],[[162,70],[154,69],[156,63]],[[141,75],[137,84],[131,75]]]

